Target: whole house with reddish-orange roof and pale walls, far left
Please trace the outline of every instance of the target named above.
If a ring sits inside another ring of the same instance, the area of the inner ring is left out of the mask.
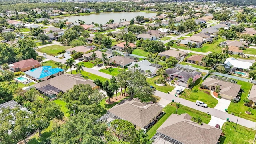
[[[27,70],[38,68],[40,66],[41,66],[40,63],[37,60],[34,60],[33,58],[30,58],[27,60],[21,60],[19,62],[14,62],[12,64],[9,64],[10,70],[14,72],[18,72],[18,71],[25,72]]]

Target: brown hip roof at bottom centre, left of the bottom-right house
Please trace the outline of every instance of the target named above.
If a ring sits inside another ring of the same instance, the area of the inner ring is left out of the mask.
[[[146,124],[161,111],[161,106],[142,104],[141,102],[138,102],[138,98],[126,101],[122,104],[117,104],[108,110],[111,114],[114,114],[123,120],[128,120],[141,128],[144,128]]]

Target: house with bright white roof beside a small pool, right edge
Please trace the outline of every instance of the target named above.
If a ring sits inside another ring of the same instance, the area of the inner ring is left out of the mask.
[[[238,71],[244,71],[249,70],[250,66],[252,66],[252,62],[243,62],[240,60],[237,60],[236,58],[227,58],[222,64],[226,70],[226,72],[233,72],[235,73],[236,70]]]

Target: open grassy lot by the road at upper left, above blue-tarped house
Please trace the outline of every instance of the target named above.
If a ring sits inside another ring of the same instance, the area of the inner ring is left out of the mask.
[[[68,48],[71,48],[71,46],[52,45],[52,46],[46,46],[44,48],[39,48],[37,51],[42,53],[45,52],[48,55],[56,56],[58,52],[62,52],[63,50],[66,50]]]

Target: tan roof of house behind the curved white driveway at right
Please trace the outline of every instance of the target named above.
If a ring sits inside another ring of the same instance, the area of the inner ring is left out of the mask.
[[[224,82],[221,80],[216,80],[214,78],[206,78],[202,85],[205,86],[220,86],[220,94],[225,94],[227,96],[231,96],[236,98],[238,92],[240,91],[241,85],[233,84],[230,82]]]

